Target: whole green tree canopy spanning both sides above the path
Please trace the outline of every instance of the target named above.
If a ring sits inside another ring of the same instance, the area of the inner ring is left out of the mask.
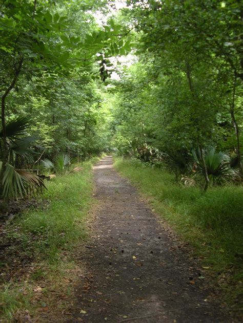
[[[242,177],[242,3],[117,4],[2,2],[2,192],[6,165],[59,153],[152,162],[199,149],[207,182],[214,147]]]

